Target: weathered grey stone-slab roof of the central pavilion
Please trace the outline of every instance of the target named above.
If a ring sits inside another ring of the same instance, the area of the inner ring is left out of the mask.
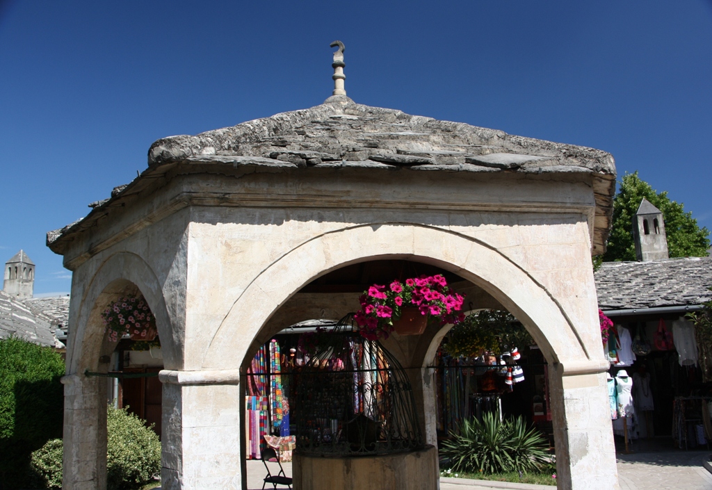
[[[508,135],[500,130],[408,115],[357,104],[345,95],[313,108],[256,119],[232,127],[157,140],[148,169],[117,187],[109,199],[90,204],[83,220],[51,231],[47,243],[88,229],[108,209],[141,189],[145,177],[167,167],[251,167],[273,172],[353,168],[367,172],[477,172],[589,174],[596,199],[594,246],[604,251],[615,188],[613,157],[589,147]]]

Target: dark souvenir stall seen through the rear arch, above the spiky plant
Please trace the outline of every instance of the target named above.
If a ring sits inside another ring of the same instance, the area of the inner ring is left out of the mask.
[[[439,439],[486,412],[522,416],[553,447],[548,366],[523,325],[506,312],[481,311],[456,325],[434,359]]]

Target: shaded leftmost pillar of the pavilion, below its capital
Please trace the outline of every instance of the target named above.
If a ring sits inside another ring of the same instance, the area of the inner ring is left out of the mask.
[[[64,490],[106,489],[106,381],[67,375],[64,385]],[[103,396],[102,396],[103,395]]]

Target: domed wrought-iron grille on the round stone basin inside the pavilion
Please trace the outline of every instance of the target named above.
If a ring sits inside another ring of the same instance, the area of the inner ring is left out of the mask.
[[[311,340],[295,380],[297,452],[362,456],[424,447],[412,385],[381,343],[359,335],[350,315]]]

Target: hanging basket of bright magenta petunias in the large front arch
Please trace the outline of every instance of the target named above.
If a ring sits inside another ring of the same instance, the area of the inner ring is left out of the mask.
[[[354,320],[368,340],[388,338],[394,330],[399,335],[419,335],[429,318],[438,320],[440,325],[456,324],[464,318],[461,312],[464,298],[449,288],[441,274],[409,278],[404,283],[393,281],[388,288],[374,284],[359,301],[361,309]]]

